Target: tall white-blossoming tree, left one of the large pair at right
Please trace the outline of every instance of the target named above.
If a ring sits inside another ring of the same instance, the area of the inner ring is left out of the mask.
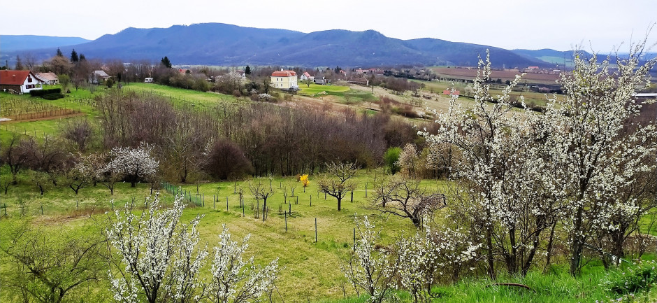
[[[447,112],[434,111],[440,127],[427,141],[433,146],[447,143],[464,159],[451,175],[458,185],[449,195],[451,218],[468,226],[472,239],[483,244],[489,275],[496,275],[496,260],[510,274],[524,275],[544,232],[558,218],[551,192],[558,186],[544,180],[558,167],[551,166],[544,145],[549,126],[528,108],[512,110],[509,94],[520,76],[493,97],[486,82],[490,75],[487,55],[486,62],[479,59],[473,83],[475,104],[465,108],[452,97]]]

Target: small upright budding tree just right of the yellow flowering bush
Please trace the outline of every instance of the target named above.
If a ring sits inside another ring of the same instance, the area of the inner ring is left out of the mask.
[[[317,186],[319,191],[338,199],[338,211],[340,211],[342,209],[342,198],[347,195],[347,192],[356,190],[358,186],[356,181],[352,180],[358,169],[354,163],[340,162],[338,164],[327,163],[326,171],[328,174],[319,178]]]

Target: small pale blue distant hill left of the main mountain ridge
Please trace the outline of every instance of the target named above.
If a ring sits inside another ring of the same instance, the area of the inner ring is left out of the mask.
[[[33,35],[2,35],[0,36],[0,51],[38,50],[87,43],[91,40],[79,37],[53,37]]]

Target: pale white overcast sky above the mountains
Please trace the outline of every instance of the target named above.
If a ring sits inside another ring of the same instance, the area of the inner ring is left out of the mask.
[[[127,27],[221,22],[306,33],[374,29],[394,38],[507,49],[572,50],[583,44],[585,50],[609,52],[642,38],[657,22],[656,0],[64,0],[37,7],[3,14],[0,43],[2,34],[95,39]]]

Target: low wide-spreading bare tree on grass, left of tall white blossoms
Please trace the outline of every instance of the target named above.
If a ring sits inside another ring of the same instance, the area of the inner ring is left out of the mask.
[[[446,205],[445,195],[428,192],[420,187],[419,181],[399,177],[375,187],[372,202],[382,213],[409,218],[415,227],[420,227],[424,218],[431,218],[436,210]]]

